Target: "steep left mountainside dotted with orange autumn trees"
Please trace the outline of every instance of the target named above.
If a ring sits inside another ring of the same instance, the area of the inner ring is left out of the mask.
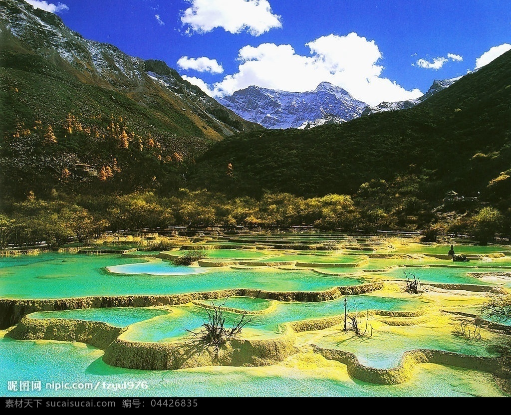
[[[262,129],[164,62],[84,39],[22,0],[0,0],[0,114],[0,187],[16,198],[94,189],[102,170],[109,191],[177,188],[183,162]]]

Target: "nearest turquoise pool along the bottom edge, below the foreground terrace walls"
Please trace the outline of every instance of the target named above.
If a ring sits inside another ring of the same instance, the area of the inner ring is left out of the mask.
[[[502,397],[489,374],[434,364],[420,365],[409,382],[375,385],[296,367],[222,367],[137,371],[105,364],[101,350],[81,343],[14,341],[0,337],[0,395],[4,397]],[[341,373],[345,368],[339,367]],[[10,391],[8,381],[41,381],[41,390]],[[96,390],[46,383],[93,383]],[[145,389],[112,390],[103,382],[146,382]]]

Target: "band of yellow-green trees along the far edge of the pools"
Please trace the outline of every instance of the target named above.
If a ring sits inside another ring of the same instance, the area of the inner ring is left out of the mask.
[[[509,213],[509,212],[508,212]],[[350,196],[329,194],[304,198],[288,193],[267,193],[260,199],[228,199],[206,190],[180,189],[172,196],[153,192],[126,195],[72,196],[56,191],[47,199],[29,194],[8,204],[0,213],[0,248],[28,246],[45,241],[58,248],[74,240],[87,243],[106,231],[138,231],[168,226],[249,229],[310,225],[320,230],[374,233],[378,229],[403,230],[392,212],[357,205]],[[474,235],[482,243],[496,235],[508,236],[511,215],[485,206],[455,219],[442,219],[424,227],[425,238],[454,233]]]

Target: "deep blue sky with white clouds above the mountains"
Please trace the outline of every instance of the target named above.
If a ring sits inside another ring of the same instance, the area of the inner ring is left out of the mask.
[[[210,95],[329,81],[376,105],[511,49],[509,0],[26,0]]]

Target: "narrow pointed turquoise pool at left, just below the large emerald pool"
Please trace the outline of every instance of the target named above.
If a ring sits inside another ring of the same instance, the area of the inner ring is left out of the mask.
[[[29,314],[31,318],[65,318],[87,321],[102,321],[111,326],[127,327],[148,320],[168,311],[146,307],[86,308],[80,310],[39,311]]]

